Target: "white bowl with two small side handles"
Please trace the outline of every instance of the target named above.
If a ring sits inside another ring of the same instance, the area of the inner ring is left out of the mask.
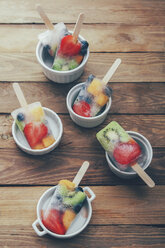
[[[50,234],[51,236],[53,236],[55,238],[60,238],[60,239],[71,238],[73,236],[76,236],[80,232],[82,232],[85,229],[85,227],[88,225],[88,223],[89,223],[89,221],[91,219],[91,216],[92,216],[91,202],[95,199],[96,196],[95,196],[95,194],[93,193],[93,191],[89,187],[84,187],[83,188],[83,190],[87,191],[91,197],[88,198],[88,196],[87,196],[87,200],[85,201],[82,209],[77,214],[77,216],[74,219],[74,221],[72,222],[72,224],[69,227],[69,229],[66,232],[66,234],[65,235],[60,235],[60,234],[56,234],[56,233],[53,233],[53,232],[49,231],[43,225],[42,220],[41,220],[41,210],[43,209],[43,207],[45,208],[47,206],[47,204],[49,203],[49,200],[52,197],[56,187],[57,186],[54,186],[54,187],[48,189],[47,191],[45,191],[44,194],[39,199],[38,204],[37,204],[37,219],[33,222],[32,227],[33,227],[33,229],[35,230],[35,232],[37,233],[38,236],[43,236],[45,234]],[[84,215],[84,213],[85,213],[85,215]],[[42,231],[40,231],[38,229],[37,225],[40,225],[40,227],[42,228]]]

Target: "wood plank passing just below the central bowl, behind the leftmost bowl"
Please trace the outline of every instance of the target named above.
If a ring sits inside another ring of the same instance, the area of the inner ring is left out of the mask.
[[[53,109],[54,110],[54,109]],[[105,127],[110,121],[118,121],[126,130],[132,130],[144,135],[151,142],[153,147],[165,147],[164,140],[164,115],[112,115],[109,114],[100,126],[96,128],[82,128],[76,125],[69,117],[69,115],[59,115],[62,120],[64,133],[60,147],[65,149],[86,148],[94,151],[99,148],[95,135]],[[11,138],[12,117],[8,115],[0,116],[0,148],[15,149],[13,138]],[[152,123],[152,125],[151,125]],[[76,134],[76,139],[75,137]],[[159,138],[157,137],[159,134]],[[6,137],[4,137],[6,136]],[[80,142],[81,141],[81,142]]]

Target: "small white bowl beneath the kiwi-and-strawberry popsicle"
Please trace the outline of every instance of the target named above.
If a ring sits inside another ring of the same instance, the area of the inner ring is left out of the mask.
[[[151,163],[153,157],[152,146],[150,142],[140,133],[127,131],[127,133],[140,145],[142,149],[142,156],[138,159],[138,164],[146,170]],[[107,163],[114,174],[119,176],[120,178],[131,179],[137,176],[137,173],[128,166],[126,170],[119,169],[115,162],[110,159],[107,152],[105,152]]]

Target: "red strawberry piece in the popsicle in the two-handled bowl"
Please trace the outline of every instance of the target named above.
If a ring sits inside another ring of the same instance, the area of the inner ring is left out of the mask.
[[[65,234],[66,229],[62,223],[63,212],[56,209],[51,209],[46,217],[42,214],[42,223],[51,232],[57,234]]]

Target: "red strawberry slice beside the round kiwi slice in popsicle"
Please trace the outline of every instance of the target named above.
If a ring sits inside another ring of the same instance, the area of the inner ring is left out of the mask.
[[[129,165],[134,162],[140,154],[141,148],[136,142],[119,143],[113,152],[115,160],[122,165]]]

